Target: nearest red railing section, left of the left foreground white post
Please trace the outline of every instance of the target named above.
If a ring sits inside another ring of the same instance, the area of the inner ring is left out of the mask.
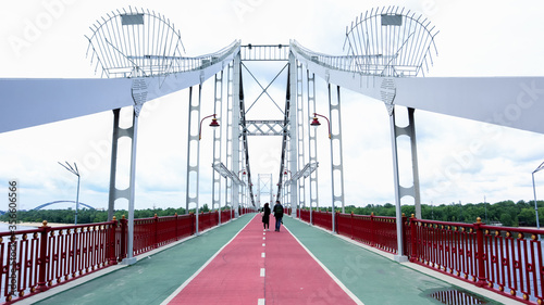
[[[23,300],[115,265],[120,254],[115,247],[116,226],[118,221],[109,221],[51,228],[44,221],[37,229],[0,232],[3,300]],[[12,246],[16,246],[14,262],[10,259]],[[13,275],[15,287],[11,282]]]

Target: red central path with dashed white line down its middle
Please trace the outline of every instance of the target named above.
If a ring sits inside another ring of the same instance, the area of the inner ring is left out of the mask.
[[[263,232],[257,215],[169,304],[356,304],[274,223]]]

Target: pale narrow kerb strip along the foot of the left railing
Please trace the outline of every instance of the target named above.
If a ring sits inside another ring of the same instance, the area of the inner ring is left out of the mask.
[[[234,218],[234,219],[232,219],[232,220],[236,220],[236,219],[237,219],[237,218]],[[230,220],[230,221],[232,221],[232,220]],[[203,233],[203,232],[211,231],[211,230],[213,230],[213,229],[217,229],[217,228],[221,227],[221,226],[222,226],[222,225],[224,225],[224,224],[227,224],[227,223],[223,223],[223,224],[221,224],[221,225],[219,225],[219,226],[211,227],[211,228],[209,228],[209,229],[207,229],[207,230],[203,230],[203,231],[199,232],[199,234],[201,234],[201,233]],[[178,240],[178,241],[176,241],[176,242],[169,243],[169,244],[166,244],[166,245],[164,245],[164,246],[161,246],[161,247],[158,247],[158,249],[151,250],[151,251],[146,252],[146,253],[141,253],[140,255],[137,255],[137,256],[136,256],[136,258],[137,258],[137,259],[140,259],[140,258],[146,257],[146,256],[151,256],[151,255],[154,255],[154,254],[157,254],[157,253],[159,253],[159,252],[162,252],[162,251],[164,251],[164,250],[166,250],[166,249],[170,249],[170,247],[172,247],[172,246],[174,246],[174,245],[178,245],[180,243],[186,242],[186,241],[191,240],[191,239],[194,239],[194,238],[196,238],[196,237],[198,237],[198,236],[196,236],[196,234],[195,234],[195,236],[186,237],[186,238],[184,238],[184,239],[182,239],[182,240]],[[53,288],[49,289],[48,291],[45,291],[45,292],[38,293],[38,294],[36,294],[36,295],[33,295],[33,296],[30,296],[30,297],[27,297],[27,298],[21,300],[21,301],[18,301],[18,302],[17,302],[17,304],[20,304],[20,305],[30,305],[30,304],[34,304],[34,303],[36,303],[36,302],[39,302],[39,301],[46,300],[46,298],[48,298],[48,297],[51,297],[51,296],[53,296],[53,295],[55,295],[55,294],[58,294],[58,293],[61,293],[61,292],[64,292],[64,291],[66,291],[66,290],[71,290],[71,289],[73,289],[73,288],[75,288],[75,287],[78,287],[78,285],[81,285],[81,284],[84,284],[84,283],[86,283],[86,282],[88,282],[88,281],[90,281],[90,280],[94,280],[94,279],[96,279],[96,278],[99,278],[99,277],[102,277],[102,276],[109,275],[109,274],[111,274],[111,272],[115,272],[116,270],[122,269],[122,268],[127,267],[127,266],[128,266],[128,265],[123,265],[123,264],[121,264],[121,263],[120,263],[120,264],[118,264],[118,265],[114,265],[114,266],[111,266],[111,267],[103,268],[103,269],[98,270],[98,271],[96,271],[96,272],[92,272],[92,274],[90,274],[90,275],[88,275],[88,276],[84,276],[84,277],[77,278],[77,279],[75,279],[75,280],[73,280],[73,281],[70,281],[70,282],[65,283],[65,284],[61,284],[61,285],[58,285],[58,287],[53,287]]]

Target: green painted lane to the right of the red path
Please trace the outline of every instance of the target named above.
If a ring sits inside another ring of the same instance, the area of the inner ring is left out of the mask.
[[[284,217],[284,224],[364,305],[445,304],[431,296],[441,295],[440,291],[452,291],[449,294],[454,295],[459,291],[478,297],[485,304],[499,304],[290,217]]]

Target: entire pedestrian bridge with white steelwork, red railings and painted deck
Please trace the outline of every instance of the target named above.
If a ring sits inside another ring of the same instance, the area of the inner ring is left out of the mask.
[[[421,219],[413,113],[423,110],[542,134],[544,77],[423,77],[436,55],[437,30],[430,21],[396,7],[372,9],[357,17],[347,27],[343,55],[309,50],[296,40],[259,46],[236,40],[214,53],[188,58],[173,24],[148,10],[118,10],[99,20],[91,31],[88,56],[102,78],[0,79],[0,132],[112,112],[111,170],[103,178],[109,179],[109,221],[61,228],[45,224],[35,230],[0,233],[3,301],[543,302],[542,231],[496,228],[477,219],[473,224]],[[272,84],[257,80],[250,62],[280,66],[274,80],[285,76],[281,94],[269,90]],[[326,82],[325,88],[317,88],[317,78]],[[247,94],[249,80],[261,89],[255,100]],[[214,113],[201,117],[201,105],[209,103],[202,99],[202,87],[210,85]],[[349,191],[344,189],[342,151],[345,89],[383,103],[387,111],[396,217],[343,214],[344,193]],[[134,219],[138,117],[149,101],[176,91],[189,97],[185,209],[196,214]],[[323,92],[325,97],[318,96]],[[248,116],[263,96],[281,115]],[[329,112],[318,113],[318,105]],[[122,109],[131,111],[128,127],[120,124]],[[407,126],[396,124],[398,109],[407,109]],[[211,127],[219,128],[208,142],[213,151],[209,181],[213,212],[201,214],[200,140],[208,118]],[[330,162],[318,158],[318,135],[310,128],[325,120],[321,128],[329,134]],[[282,139],[276,183],[270,173],[261,178],[251,171],[256,157],[250,158],[248,137],[252,136]],[[409,152],[398,151],[403,136],[410,140]],[[120,139],[129,140],[129,155],[119,152]],[[410,186],[399,182],[399,153],[411,161]],[[120,166],[118,160],[129,160],[129,166]],[[332,195],[326,201],[319,198],[319,163],[332,171]],[[129,177],[126,188],[116,181],[123,174]],[[280,199],[286,205],[290,217],[285,217],[285,230],[261,229],[251,213],[260,208],[261,192],[269,198],[262,202]],[[411,217],[400,213],[406,196],[416,205]],[[128,202],[127,219],[113,217],[119,200]],[[323,206],[334,213],[317,211]]]

